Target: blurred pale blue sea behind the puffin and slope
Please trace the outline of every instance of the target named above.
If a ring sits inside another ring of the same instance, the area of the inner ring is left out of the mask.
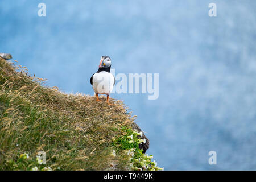
[[[255,9],[254,0],[1,0],[0,52],[66,93],[94,94],[89,80],[102,55],[115,74],[159,73],[157,100],[110,96],[137,115],[158,166],[255,170]]]

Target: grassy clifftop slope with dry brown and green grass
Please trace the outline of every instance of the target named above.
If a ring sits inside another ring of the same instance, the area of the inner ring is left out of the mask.
[[[139,150],[134,118],[121,101],[108,105],[42,82],[0,58],[0,170],[158,169]],[[38,164],[39,151],[46,152],[46,165]]]

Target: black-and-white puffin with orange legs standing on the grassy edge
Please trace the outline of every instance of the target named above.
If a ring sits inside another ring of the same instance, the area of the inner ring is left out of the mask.
[[[96,94],[96,101],[98,94],[106,94],[107,103],[109,104],[109,94],[115,85],[115,77],[110,73],[111,59],[109,56],[101,56],[100,65],[98,65],[98,71],[90,77],[90,84]]]

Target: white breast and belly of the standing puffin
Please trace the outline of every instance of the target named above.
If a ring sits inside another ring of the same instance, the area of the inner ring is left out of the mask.
[[[110,94],[114,86],[112,73],[102,71],[93,75],[93,90],[97,94]]]

